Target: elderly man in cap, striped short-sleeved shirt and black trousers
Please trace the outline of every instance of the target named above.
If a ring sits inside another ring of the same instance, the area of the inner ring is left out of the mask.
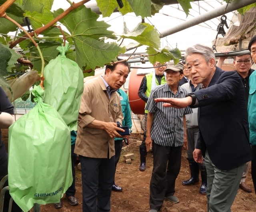
[[[182,146],[188,147],[186,139],[186,117],[192,113],[190,107],[176,109],[163,107],[156,103],[156,98],[184,98],[188,94],[186,89],[178,86],[183,78],[183,64],[167,64],[167,84],[155,87],[148,99],[146,148],[152,147],[154,164],[150,181],[150,211],[161,209],[164,198],[178,203],[175,193],[175,180],[180,172]],[[168,166],[167,166],[168,162]],[[167,170],[166,170],[167,166]]]

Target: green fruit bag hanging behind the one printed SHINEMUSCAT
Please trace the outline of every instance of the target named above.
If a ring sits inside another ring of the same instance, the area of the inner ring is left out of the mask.
[[[78,112],[84,91],[84,75],[78,64],[65,53],[70,46],[59,46],[60,52],[44,69],[44,103],[54,107],[70,131],[77,130]]]

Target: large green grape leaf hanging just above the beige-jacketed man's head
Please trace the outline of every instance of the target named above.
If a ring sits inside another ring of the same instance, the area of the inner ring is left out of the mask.
[[[62,12],[62,9],[54,11],[54,17]],[[103,67],[121,51],[117,44],[105,43],[104,37],[116,39],[116,36],[107,30],[110,25],[97,21],[98,17],[83,5],[60,20],[71,34],[76,48],[76,62],[81,68]]]

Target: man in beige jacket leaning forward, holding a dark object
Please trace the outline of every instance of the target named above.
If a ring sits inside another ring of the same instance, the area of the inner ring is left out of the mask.
[[[105,75],[84,84],[74,153],[82,170],[83,212],[110,211],[114,182],[114,137],[121,137],[116,122],[122,124],[118,90],[129,74],[127,62],[107,65]]]

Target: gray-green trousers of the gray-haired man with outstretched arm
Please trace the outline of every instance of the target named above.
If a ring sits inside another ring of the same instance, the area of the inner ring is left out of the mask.
[[[218,169],[206,150],[207,208],[208,212],[231,212],[230,208],[242,178],[245,164],[231,170]]]

